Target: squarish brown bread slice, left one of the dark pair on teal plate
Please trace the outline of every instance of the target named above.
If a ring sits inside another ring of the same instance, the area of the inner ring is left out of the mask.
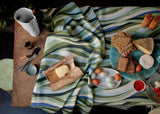
[[[128,61],[129,61],[128,58],[119,57],[116,69],[119,70],[119,71],[125,72],[127,70]]]

